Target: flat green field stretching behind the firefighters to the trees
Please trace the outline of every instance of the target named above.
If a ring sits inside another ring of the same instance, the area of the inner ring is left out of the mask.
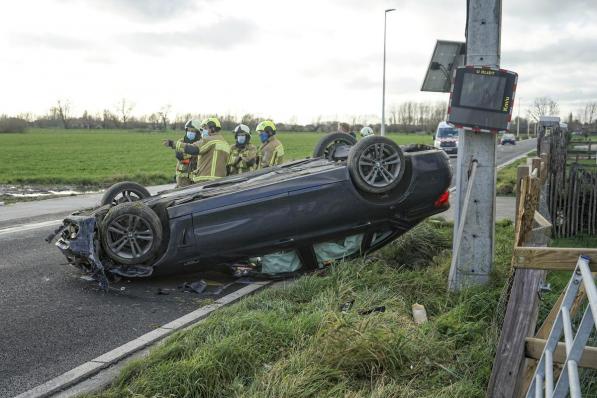
[[[284,144],[286,160],[310,156],[322,135],[278,133]],[[176,160],[174,152],[164,147],[162,140],[181,136],[181,131],[62,129],[0,134],[0,184],[172,182]],[[226,132],[225,137],[233,141],[230,132]],[[431,144],[431,135],[390,134],[389,137],[399,144]]]

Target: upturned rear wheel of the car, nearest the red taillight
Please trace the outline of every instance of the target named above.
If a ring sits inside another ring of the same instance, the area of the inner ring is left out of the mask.
[[[374,194],[394,189],[405,169],[404,154],[398,144],[378,136],[367,137],[352,147],[347,163],[357,188]]]

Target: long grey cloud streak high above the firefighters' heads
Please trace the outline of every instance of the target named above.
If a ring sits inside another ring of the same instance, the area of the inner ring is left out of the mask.
[[[227,18],[191,30],[130,33],[123,35],[119,42],[143,53],[161,53],[170,48],[228,50],[251,41],[257,30],[254,22]]]

